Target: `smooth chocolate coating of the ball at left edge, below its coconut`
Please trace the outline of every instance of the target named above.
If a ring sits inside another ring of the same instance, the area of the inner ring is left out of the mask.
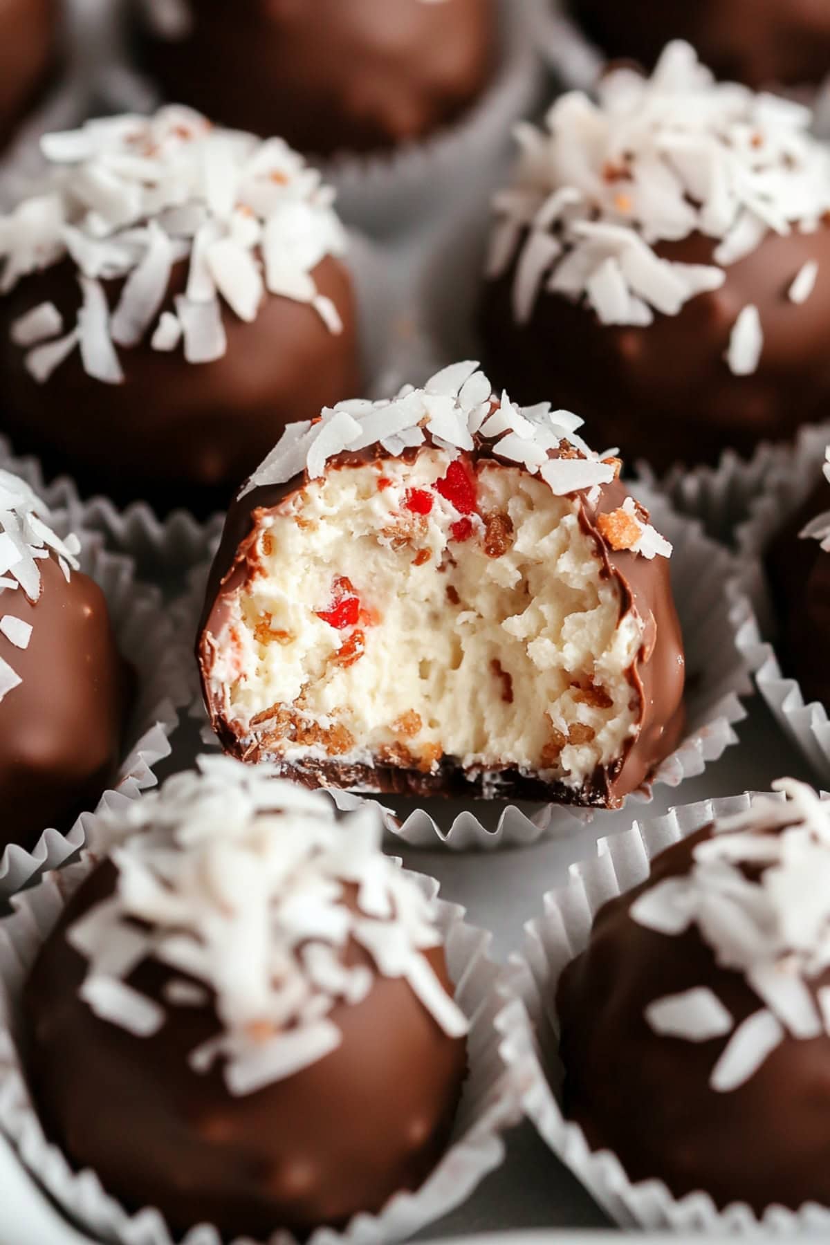
[[[41,594],[2,593],[0,615],[32,627],[26,649],[0,635],[0,656],[22,682],[0,701],[0,848],[32,848],[46,827],[66,830],[114,776],[128,711],[128,671],[103,593],[52,558],[37,563]]]

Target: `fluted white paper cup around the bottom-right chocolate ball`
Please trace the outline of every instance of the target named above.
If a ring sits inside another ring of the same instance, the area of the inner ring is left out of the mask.
[[[524,1112],[543,1139],[622,1228],[724,1236],[758,1234],[762,1228],[779,1233],[830,1230],[830,1210],[815,1205],[798,1213],[770,1206],[759,1220],[744,1204],[719,1210],[706,1191],[678,1199],[661,1180],[635,1184],[615,1154],[591,1150],[582,1129],[565,1119],[560,1104],[556,987],[565,967],[585,950],[597,910],[640,885],[648,876],[650,862],[664,848],[716,817],[748,808],[752,799],[744,794],[688,804],[666,817],[635,822],[630,830],[602,839],[597,859],[572,865],[570,881],[545,895],[544,916],[528,923],[523,955],[514,956],[509,989],[519,997],[508,1003],[500,1018],[505,1032],[501,1059],[524,1087]]]

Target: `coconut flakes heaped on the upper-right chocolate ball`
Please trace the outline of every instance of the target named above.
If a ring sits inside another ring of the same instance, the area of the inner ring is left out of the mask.
[[[716,82],[682,41],[651,77],[616,68],[597,86],[556,101],[543,128],[521,123],[513,186],[494,199],[488,275],[518,256],[519,322],[540,294],[584,300],[607,325],[646,326],[719,289],[729,264],[768,233],[813,233],[830,208],[830,153],[809,133],[809,108],[732,82]],[[701,233],[717,242],[713,264],[660,258],[658,243]],[[793,273],[790,299],[805,301],[818,266]],[[744,308],[727,362],[758,366],[763,325]]]

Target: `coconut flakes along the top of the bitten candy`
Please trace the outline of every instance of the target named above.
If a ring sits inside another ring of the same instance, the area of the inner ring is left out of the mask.
[[[380,444],[389,457],[433,444],[453,458],[470,452],[477,436],[490,438],[506,462],[539,476],[556,497],[585,491],[599,498],[602,484],[615,479],[616,449],[597,454],[577,436],[584,421],[570,411],[551,411],[550,402],[516,407],[506,393],[498,397],[477,362],[444,367],[422,390],[406,385],[397,397],[378,402],[357,398],[326,407],[319,420],[290,423],[254,472],[240,497],[254,488],[286,484],[301,472],[322,476],[338,454]],[[557,456],[560,451],[566,451]],[[672,547],[626,502],[637,525],[635,552],[667,558]]]

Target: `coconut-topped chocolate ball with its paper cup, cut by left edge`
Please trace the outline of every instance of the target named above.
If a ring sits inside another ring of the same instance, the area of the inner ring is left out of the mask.
[[[187,688],[153,589],[0,472],[0,894],[56,867],[85,817],[156,781]]]

